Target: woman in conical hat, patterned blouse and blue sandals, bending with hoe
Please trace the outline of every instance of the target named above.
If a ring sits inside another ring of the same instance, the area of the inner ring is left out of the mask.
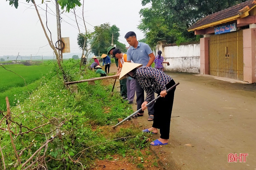
[[[144,111],[146,104],[151,101],[154,92],[161,96],[154,105],[153,125],[149,129],[143,130],[146,133],[156,134],[160,129],[160,138],[154,140],[150,145],[167,145],[170,135],[171,113],[174,100],[175,88],[168,93],[167,89],[175,85],[174,80],[163,71],[152,67],[141,67],[142,64],[124,62],[119,80],[124,78],[133,78],[138,81],[140,86],[146,92],[146,99],[141,108]]]

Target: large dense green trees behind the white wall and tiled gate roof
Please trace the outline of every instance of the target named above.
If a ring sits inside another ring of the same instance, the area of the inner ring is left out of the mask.
[[[204,16],[221,11],[246,0],[142,0],[151,7],[140,10],[138,28],[144,32],[146,43],[155,47],[157,41],[180,44],[198,40],[187,29]]]

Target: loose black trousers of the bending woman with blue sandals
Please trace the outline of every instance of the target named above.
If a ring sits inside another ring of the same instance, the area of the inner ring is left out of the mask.
[[[175,82],[171,80],[166,85],[166,88],[169,89],[173,85],[175,85]],[[169,139],[170,136],[170,123],[175,89],[176,87],[169,91],[165,97],[160,97],[155,101],[154,122],[152,127],[160,129],[160,138],[162,139]]]

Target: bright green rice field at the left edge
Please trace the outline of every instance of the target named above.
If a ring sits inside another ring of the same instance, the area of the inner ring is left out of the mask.
[[[24,65],[4,65],[7,70],[11,70],[16,74],[22,76],[26,84],[30,84],[39,78],[42,77],[43,74],[47,73],[52,69],[52,64],[44,64],[44,65],[32,65],[32,66],[24,66]],[[0,92],[2,93],[5,90],[8,90],[12,87],[23,87],[25,86],[24,80],[14,74],[11,71],[5,70],[3,67],[0,67]]]

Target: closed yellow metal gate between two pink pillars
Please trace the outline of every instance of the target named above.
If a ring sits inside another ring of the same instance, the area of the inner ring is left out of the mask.
[[[209,71],[212,76],[243,80],[243,30],[210,36]]]

